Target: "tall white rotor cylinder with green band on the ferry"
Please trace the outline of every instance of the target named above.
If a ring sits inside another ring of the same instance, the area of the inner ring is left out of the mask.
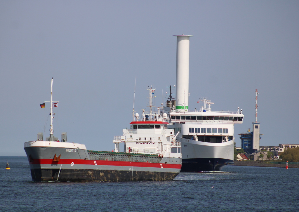
[[[188,112],[190,36],[176,36],[176,112]]]

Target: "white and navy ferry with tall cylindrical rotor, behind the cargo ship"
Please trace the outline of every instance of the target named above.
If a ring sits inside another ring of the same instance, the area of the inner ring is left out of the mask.
[[[220,171],[234,163],[234,125],[243,122],[242,109],[235,112],[212,111],[214,104],[206,98],[190,111],[189,103],[189,44],[190,35],[177,35],[176,86],[169,86],[164,112],[181,142],[182,172]],[[175,98],[172,92],[176,89]]]

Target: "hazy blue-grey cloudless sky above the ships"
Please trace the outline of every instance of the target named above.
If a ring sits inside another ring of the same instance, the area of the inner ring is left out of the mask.
[[[176,83],[176,37],[190,38],[189,109],[243,110],[261,146],[299,144],[299,1],[0,1],[0,155],[49,135],[111,151],[114,135]],[[48,120],[48,122],[47,122]]]

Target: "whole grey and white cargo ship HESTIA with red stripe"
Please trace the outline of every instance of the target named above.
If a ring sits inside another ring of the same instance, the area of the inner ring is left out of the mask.
[[[152,101],[153,90],[149,90]],[[24,143],[31,178],[34,182],[121,182],[173,180],[182,165],[181,143],[175,141],[173,129],[168,129],[167,114],[163,107],[142,112],[142,118],[133,112],[129,129],[114,137],[115,150],[87,150],[84,144],[67,141],[66,133],[61,140],[53,135],[53,78],[51,80],[50,135],[43,138],[38,133],[35,141]],[[45,103],[41,104],[45,107]],[[134,110],[133,110],[134,111]],[[120,148],[123,145],[123,152]]]

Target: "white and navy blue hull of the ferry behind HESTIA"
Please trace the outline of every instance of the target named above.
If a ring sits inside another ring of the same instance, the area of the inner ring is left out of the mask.
[[[221,171],[223,167],[234,164],[234,141],[207,143],[180,139],[182,142],[181,172]]]

